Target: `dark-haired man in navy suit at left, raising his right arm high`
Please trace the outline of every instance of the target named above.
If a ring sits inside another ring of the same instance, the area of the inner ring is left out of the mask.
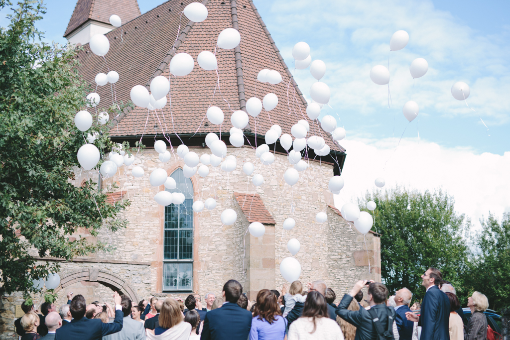
[[[80,339],[80,340],[101,340],[103,336],[116,333],[122,329],[122,306],[120,295],[115,292],[113,295],[115,302],[115,320],[113,323],[105,324],[99,319],[85,318],[87,304],[83,295],[77,295],[72,298],[69,309],[73,320],[57,329],[55,340]]]

